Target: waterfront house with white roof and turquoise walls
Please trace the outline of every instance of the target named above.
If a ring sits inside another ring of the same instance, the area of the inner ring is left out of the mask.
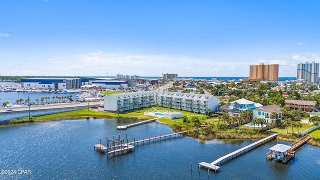
[[[248,109],[256,109],[258,107],[262,107],[263,105],[260,103],[255,103],[250,100],[241,98],[234,100],[230,102],[230,106],[228,107],[229,109],[229,116],[234,116],[237,117],[240,115],[242,111],[247,111]]]

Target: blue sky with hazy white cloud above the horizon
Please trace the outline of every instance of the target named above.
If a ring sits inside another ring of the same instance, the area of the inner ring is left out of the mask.
[[[0,75],[248,76],[320,62],[319,0],[0,0]]]

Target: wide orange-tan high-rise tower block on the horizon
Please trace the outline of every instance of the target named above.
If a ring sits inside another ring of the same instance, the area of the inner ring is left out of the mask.
[[[279,64],[259,63],[259,65],[250,65],[249,78],[243,81],[278,81]]]

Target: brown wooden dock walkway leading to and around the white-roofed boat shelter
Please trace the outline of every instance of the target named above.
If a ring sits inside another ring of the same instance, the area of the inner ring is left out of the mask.
[[[298,139],[295,142],[291,143],[289,145],[289,146],[291,146],[291,148],[284,152],[284,157],[281,160],[281,162],[282,163],[287,163],[290,159],[294,158],[295,157],[295,150],[297,148],[299,148],[301,145],[305,144],[310,138],[312,138],[312,136],[304,135],[300,139]],[[266,156],[267,159],[273,159],[272,155],[274,153],[276,153],[276,151],[270,150],[267,153],[265,153],[265,156]]]

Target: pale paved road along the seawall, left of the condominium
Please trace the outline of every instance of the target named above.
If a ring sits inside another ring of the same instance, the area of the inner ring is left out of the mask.
[[[96,101],[89,102],[89,106],[91,105],[100,105],[103,104],[104,101]],[[88,105],[87,102],[74,102],[74,103],[54,103],[54,104],[45,104],[45,105],[30,105],[30,110],[38,110],[38,109],[47,109],[47,108],[61,108],[61,107],[76,107],[76,106],[84,106]],[[2,107],[0,108],[0,112],[5,112],[8,109],[12,109],[14,111],[21,110],[29,110],[28,106],[21,107]]]

